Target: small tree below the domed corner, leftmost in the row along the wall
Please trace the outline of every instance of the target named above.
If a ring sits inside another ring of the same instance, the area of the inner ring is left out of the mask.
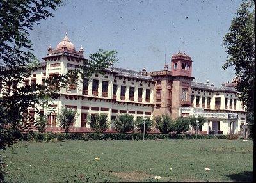
[[[61,107],[61,110],[57,113],[58,125],[65,129],[65,133],[68,133],[70,125],[76,119],[76,113],[76,109],[68,109],[67,107]]]

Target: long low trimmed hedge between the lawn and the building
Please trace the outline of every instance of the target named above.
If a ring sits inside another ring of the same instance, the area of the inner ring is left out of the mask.
[[[230,139],[227,135],[198,134],[197,139]],[[119,133],[39,133],[31,132],[21,134],[20,141],[63,141],[77,139],[84,141],[92,140],[143,140],[143,134],[119,134]],[[196,139],[195,134],[145,134],[145,140],[157,139]]]

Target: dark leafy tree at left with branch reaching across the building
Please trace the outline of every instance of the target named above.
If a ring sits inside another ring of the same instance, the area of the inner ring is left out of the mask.
[[[39,66],[31,49],[29,31],[40,20],[52,17],[50,11],[62,4],[61,0],[0,0],[0,149],[19,138],[22,119],[29,109],[34,108],[39,114],[38,107],[47,108],[61,88],[82,82],[92,73],[103,72],[117,61],[116,51],[99,50],[84,60],[81,68],[46,79],[45,85],[24,86],[25,78]]]

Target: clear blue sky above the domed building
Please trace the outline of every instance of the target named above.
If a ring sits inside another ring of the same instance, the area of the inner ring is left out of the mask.
[[[42,61],[51,44],[65,37],[82,46],[88,58],[99,49],[115,50],[114,67],[141,71],[164,70],[179,51],[191,56],[193,81],[214,86],[232,81],[234,67],[227,60],[223,37],[236,17],[240,0],[63,0],[54,17],[31,31],[34,54]]]

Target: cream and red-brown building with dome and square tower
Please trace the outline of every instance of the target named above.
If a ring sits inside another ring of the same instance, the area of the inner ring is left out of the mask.
[[[67,33],[56,49],[50,46],[47,56],[25,84],[42,83],[54,74],[64,74],[86,61],[83,47],[76,51]],[[193,82],[192,59],[185,52],[178,52],[170,59],[164,70],[141,72],[124,68],[109,67],[104,74],[92,74],[84,83],[61,89],[58,99],[51,104],[55,113],[41,109],[47,115],[47,131],[61,131],[56,122],[56,113],[61,106],[77,109],[77,118],[70,132],[90,132],[90,125],[84,120],[88,115],[103,114],[109,122],[117,115],[128,113],[138,118],[154,118],[156,115],[203,116],[207,122],[201,133],[228,134],[236,132],[246,124],[246,111],[237,99],[239,93],[234,83],[223,84],[221,88],[213,84]],[[232,85],[233,84],[233,85]],[[30,115],[35,118],[35,113]],[[25,122],[24,127],[33,122]],[[109,129],[111,132],[111,128]]]

